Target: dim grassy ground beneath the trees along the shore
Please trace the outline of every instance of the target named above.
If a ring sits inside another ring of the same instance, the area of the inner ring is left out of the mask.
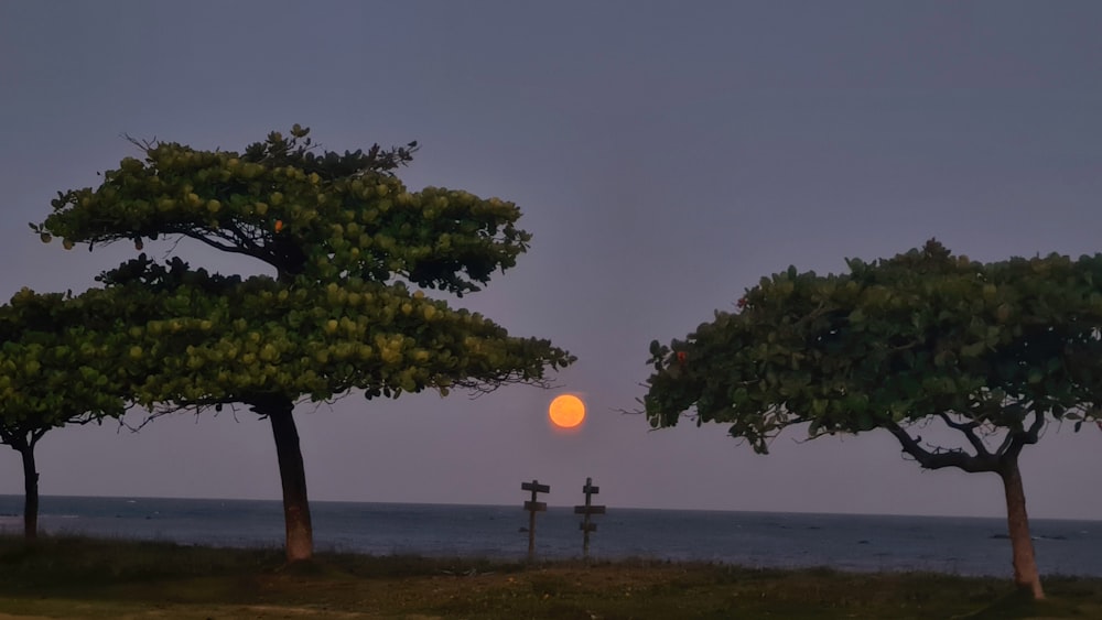
[[[523,564],[0,537],[0,618],[1102,618],[1102,579],[1008,580],[649,561]]]

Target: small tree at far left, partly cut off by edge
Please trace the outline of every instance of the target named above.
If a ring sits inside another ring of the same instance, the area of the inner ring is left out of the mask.
[[[0,443],[23,465],[23,533],[37,536],[39,472],[34,448],[51,429],[119,417],[131,370],[115,345],[117,298],[18,292],[0,306]]]

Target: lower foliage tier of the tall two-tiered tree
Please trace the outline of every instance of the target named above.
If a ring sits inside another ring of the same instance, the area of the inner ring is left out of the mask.
[[[109,290],[154,317],[129,328],[126,357],[145,363],[137,402],[248,402],[258,395],[327,400],[452,385],[531,381],[572,361],[547,340],[510,337],[478,313],[348,278],[324,286],[296,279],[240,279],[168,267],[144,254],[108,272]]]

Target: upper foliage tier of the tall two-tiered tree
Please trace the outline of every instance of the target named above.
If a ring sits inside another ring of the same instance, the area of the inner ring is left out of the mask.
[[[512,203],[462,191],[409,192],[391,171],[415,143],[314,153],[309,130],[271,133],[244,153],[140,143],[96,188],[58,193],[31,225],[44,241],[74,243],[185,236],[251,255],[281,276],[386,282],[400,275],[457,295],[516,264],[531,236]],[[136,142],[137,143],[137,142]]]

